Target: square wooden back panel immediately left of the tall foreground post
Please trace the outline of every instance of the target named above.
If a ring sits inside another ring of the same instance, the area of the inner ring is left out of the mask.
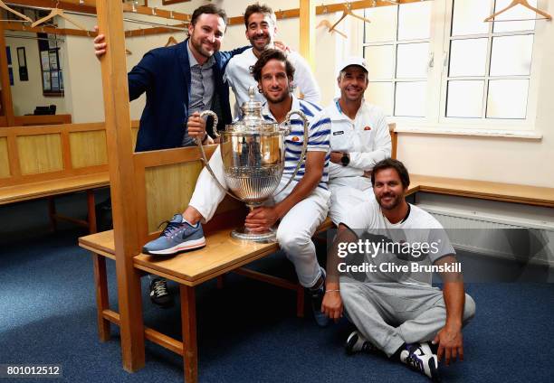
[[[108,163],[105,130],[70,133],[70,146],[73,168]]]

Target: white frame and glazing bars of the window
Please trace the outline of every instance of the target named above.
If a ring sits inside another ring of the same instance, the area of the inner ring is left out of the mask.
[[[496,0],[492,0],[491,11],[494,10]],[[538,7],[544,8],[546,0],[538,0]],[[399,5],[390,5],[399,6]],[[452,133],[454,131],[461,132],[461,134],[473,133],[476,135],[508,135],[508,136],[527,136],[534,135],[535,122],[537,117],[537,107],[539,98],[540,87],[540,66],[542,52],[538,47],[544,46],[542,30],[545,28],[544,23],[535,23],[535,29],[533,31],[517,31],[517,32],[502,32],[493,33],[493,23],[489,25],[488,33],[475,34],[475,35],[461,35],[451,36],[452,31],[452,16],[454,10],[454,0],[434,0],[431,6],[431,27],[429,36],[429,57],[430,67],[427,71],[427,99],[425,107],[425,117],[387,117],[390,122],[397,124],[399,131],[425,131],[425,133],[436,132],[442,134],[444,132]],[[396,12],[396,39],[398,33],[398,12]],[[492,55],[492,37],[498,36],[511,36],[511,35],[525,35],[533,34],[533,49],[531,53],[531,69],[530,76],[490,76],[490,65]],[[446,117],[446,97],[447,86],[449,79],[472,79],[469,77],[449,78],[448,70],[450,65],[450,46],[453,40],[461,39],[473,39],[484,38],[487,41],[487,62],[485,67],[485,75],[475,77],[475,79],[482,79],[485,81],[485,89],[483,89],[483,113],[482,117]],[[410,42],[426,42],[427,40],[414,40],[414,41],[395,41],[395,42],[365,42],[365,30],[362,34],[361,50],[362,54],[365,54],[365,48],[367,46],[394,44],[394,59],[396,70],[396,57],[397,57],[397,45],[399,43]],[[371,62],[368,62],[371,65]],[[486,107],[488,98],[488,86],[490,79],[529,79],[529,89],[527,97],[527,112],[525,119],[512,119],[512,118],[487,118]],[[409,79],[399,79],[400,81],[406,81]],[[374,82],[379,82],[376,80]],[[383,79],[382,82],[386,80]],[[395,93],[396,93],[396,71],[394,78],[387,80],[387,82],[393,82],[393,114],[395,111]],[[371,81],[369,82],[371,86]],[[377,104],[378,105],[378,104]],[[521,134],[520,134],[521,133]]]

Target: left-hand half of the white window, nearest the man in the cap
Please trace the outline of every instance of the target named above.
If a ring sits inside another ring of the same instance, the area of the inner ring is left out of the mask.
[[[425,117],[432,2],[367,9],[367,97],[389,116]],[[378,100],[378,101],[377,101]]]

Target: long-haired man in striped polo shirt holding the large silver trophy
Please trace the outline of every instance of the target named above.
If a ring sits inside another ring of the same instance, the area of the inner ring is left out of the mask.
[[[290,91],[294,68],[282,51],[263,51],[252,69],[258,89],[267,99],[263,106],[265,120],[285,124],[291,110],[307,110],[310,133],[307,153],[301,162],[299,172],[288,188],[274,196],[274,205],[251,211],[244,226],[255,232],[265,232],[278,221],[277,241],[287,257],[294,264],[301,285],[308,288],[312,298],[315,318],[321,326],[328,318],[321,313],[321,299],[324,294],[325,271],[319,265],[316,249],[311,237],[327,217],[330,192],[327,187],[329,165],[330,119],[323,117],[318,108],[296,98]],[[303,145],[303,122],[299,117],[291,118],[292,130],[285,138],[285,164],[280,186],[291,179],[297,163],[301,160]],[[210,158],[215,176],[226,186],[221,149],[218,147]],[[143,248],[146,254],[158,256],[175,255],[180,251],[205,246],[201,221],[211,220],[215,210],[225,196],[212,175],[203,169],[196,181],[195,192],[186,210],[176,214],[161,235]]]

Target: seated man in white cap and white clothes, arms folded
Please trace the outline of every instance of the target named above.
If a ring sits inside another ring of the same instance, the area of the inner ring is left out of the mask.
[[[340,98],[325,108],[331,119],[329,187],[330,219],[359,229],[364,217],[356,206],[373,199],[370,174],[373,166],[391,154],[387,118],[364,101],[368,68],[361,57],[350,57],[339,67]],[[347,217],[346,212],[351,212]],[[339,227],[340,229],[340,227]]]

